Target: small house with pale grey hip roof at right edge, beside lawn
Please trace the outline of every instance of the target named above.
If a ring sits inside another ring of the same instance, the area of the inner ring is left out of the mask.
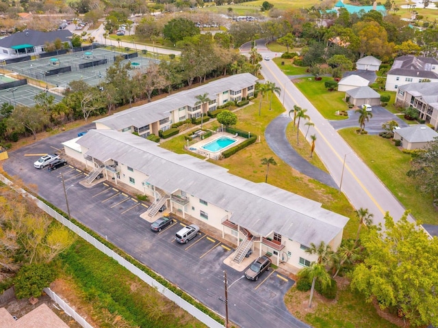
[[[416,124],[394,131],[394,140],[402,141],[402,148],[407,150],[424,148],[438,137],[437,131],[426,124]]]

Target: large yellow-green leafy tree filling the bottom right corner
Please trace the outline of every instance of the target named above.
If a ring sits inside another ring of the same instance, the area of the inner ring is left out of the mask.
[[[372,227],[361,238],[366,251],[355,267],[351,288],[381,309],[396,308],[411,327],[438,325],[438,239],[419,222],[396,223],[385,215],[385,231]]]

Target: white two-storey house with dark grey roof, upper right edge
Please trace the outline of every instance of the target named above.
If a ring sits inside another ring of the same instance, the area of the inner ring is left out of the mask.
[[[408,83],[438,82],[438,60],[432,57],[401,56],[387,74],[385,89],[396,91]]]

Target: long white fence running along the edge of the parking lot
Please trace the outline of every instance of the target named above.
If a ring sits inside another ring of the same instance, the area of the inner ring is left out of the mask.
[[[12,184],[12,182],[10,180],[5,178],[1,174],[0,174],[0,180],[2,180],[5,184],[9,184],[9,185]],[[167,297],[171,301],[175,302],[180,308],[182,308],[183,310],[192,314],[192,316],[194,316],[195,318],[197,318],[198,320],[203,322],[208,327],[211,327],[211,328],[222,328],[223,327],[216,320],[209,317],[207,314],[205,314],[201,310],[198,310],[197,308],[195,308],[194,305],[188,303],[188,301],[185,301],[184,299],[181,299],[181,297],[176,295],[175,292],[172,292],[171,290],[169,290],[168,288],[166,288],[165,286],[163,286],[162,284],[157,282],[155,279],[153,279],[149,275],[146,275],[146,273],[144,273],[143,271],[138,269],[136,266],[134,266],[133,264],[131,264],[130,262],[128,262],[127,260],[125,260],[124,258],[119,256],[118,254],[114,253],[114,251],[112,251],[112,249],[103,245],[103,243],[98,241],[96,238],[94,238],[93,236],[90,236],[90,234],[83,231],[78,226],[75,226],[75,224],[73,224],[71,221],[68,221],[68,219],[66,219],[65,217],[63,217],[62,215],[57,213],[55,210],[53,210],[52,208],[50,208],[49,206],[47,206],[46,204],[44,204],[43,202],[38,200],[38,198],[30,195],[29,193],[27,193],[23,189],[15,188],[15,190],[23,195],[27,195],[27,196],[30,196],[31,198],[33,198],[36,201],[37,206],[39,208],[41,208],[42,210],[44,210],[44,212],[49,214],[51,217],[53,217],[57,221],[60,221],[60,223],[64,224],[64,226],[66,226],[67,228],[69,228],[70,230],[72,230],[73,232],[78,234],[79,236],[81,236],[83,239],[88,241],[88,243],[90,243],[91,245],[93,245],[94,247],[96,247],[97,249],[102,251],[103,253],[105,253],[107,256],[110,256],[110,258],[114,258],[114,260],[116,260],[120,265],[123,265],[123,267],[125,267],[126,269],[131,271],[131,273],[133,273],[134,275],[136,275],[137,277],[142,279],[144,282],[146,282],[146,284],[149,284],[149,286],[152,286],[153,288],[155,288],[158,292],[162,293],[162,295],[164,295],[165,297]]]

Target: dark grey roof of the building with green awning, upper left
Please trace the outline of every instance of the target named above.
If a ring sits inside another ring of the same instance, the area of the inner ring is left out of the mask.
[[[0,46],[11,48],[21,44],[31,44],[32,46],[42,46],[46,42],[53,42],[60,38],[62,42],[70,41],[72,33],[66,29],[51,32],[34,31],[27,29],[23,32],[17,32],[0,40]]]

